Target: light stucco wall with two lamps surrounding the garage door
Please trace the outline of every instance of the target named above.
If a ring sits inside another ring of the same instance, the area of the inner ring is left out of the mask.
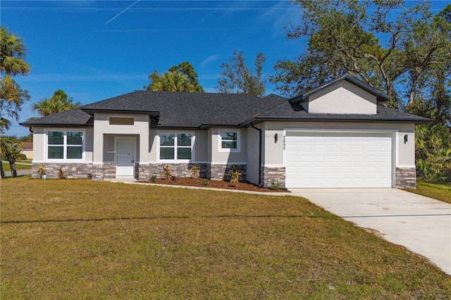
[[[264,127],[264,155],[262,164],[266,166],[283,165],[283,130],[311,129],[311,130],[383,130],[394,132],[393,154],[396,167],[412,167],[415,165],[415,125],[400,123],[338,123],[338,122],[265,122]],[[274,142],[274,135],[278,134],[278,142]],[[404,144],[404,135],[408,142]]]

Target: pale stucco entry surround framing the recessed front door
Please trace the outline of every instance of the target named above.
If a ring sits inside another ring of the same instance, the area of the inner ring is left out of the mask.
[[[133,125],[110,125],[109,118],[134,118]],[[128,113],[94,113],[94,163],[104,161],[104,135],[137,135],[140,163],[149,161],[149,115]]]

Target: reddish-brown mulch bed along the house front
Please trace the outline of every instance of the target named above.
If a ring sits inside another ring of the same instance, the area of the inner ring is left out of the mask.
[[[146,183],[156,183],[158,185],[181,185],[185,187],[214,187],[216,189],[235,189],[239,191],[251,192],[288,192],[283,189],[273,190],[258,187],[247,180],[238,182],[236,186],[226,180],[208,180],[204,178],[177,178],[176,180],[156,178],[155,182],[146,181]]]

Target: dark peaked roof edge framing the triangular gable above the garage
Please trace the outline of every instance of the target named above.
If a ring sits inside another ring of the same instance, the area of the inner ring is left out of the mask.
[[[330,87],[330,85],[335,85],[335,83],[340,82],[342,80],[346,80],[347,82],[351,82],[353,85],[356,85],[357,87],[360,87],[366,92],[369,92],[370,94],[373,94],[376,96],[378,103],[385,102],[390,100],[390,96],[388,94],[385,94],[384,92],[381,92],[379,89],[376,89],[376,87],[372,87],[371,85],[367,84],[366,82],[363,82],[362,80],[359,80],[358,78],[345,74],[340,77],[335,78],[334,80],[330,80],[329,82],[326,82],[323,85],[320,85],[319,87],[315,87],[314,89],[310,89],[307,92],[304,92],[300,94],[299,96],[295,96],[294,98],[290,99],[290,102],[302,102],[307,101],[309,99],[309,96],[311,94],[315,94],[321,89],[326,89],[326,87]]]

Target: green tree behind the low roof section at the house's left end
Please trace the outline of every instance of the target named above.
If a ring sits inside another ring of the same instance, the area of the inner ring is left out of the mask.
[[[62,89],[58,89],[50,98],[44,98],[33,104],[33,111],[37,111],[42,116],[53,115],[54,113],[69,111],[80,105],[80,102],[74,103],[72,97],[69,97]]]

